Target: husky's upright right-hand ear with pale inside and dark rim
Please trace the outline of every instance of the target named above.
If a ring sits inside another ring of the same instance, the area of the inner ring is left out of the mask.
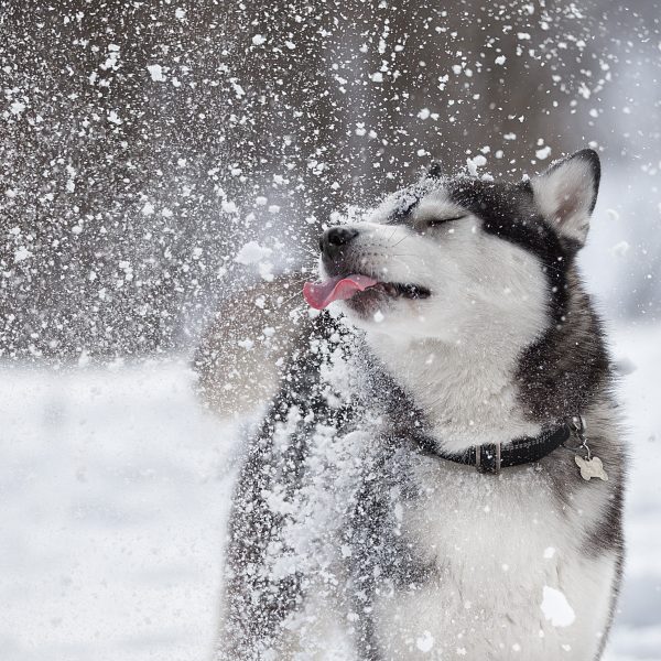
[[[600,173],[597,152],[584,149],[553,163],[531,181],[534,199],[546,220],[579,247],[587,238]]]

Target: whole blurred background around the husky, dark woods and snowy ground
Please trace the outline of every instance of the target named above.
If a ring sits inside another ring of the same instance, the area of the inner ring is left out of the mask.
[[[659,661],[660,10],[0,0],[2,658],[205,658],[240,423],[188,365],[223,301],[432,161],[520,178],[590,145],[635,459],[611,654]]]

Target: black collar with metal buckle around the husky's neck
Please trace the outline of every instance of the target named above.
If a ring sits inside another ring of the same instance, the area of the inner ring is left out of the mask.
[[[566,443],[573,432],[571,423],[564,422],[557,427],[542,432],[539,436],[514,438],[503,447],[500,443],[474,445],[459,454],[438,449],[437,443],[430,436],[416,436],[415,443],[424,454],[465,466],[475,466],[480,473],[499,473],[501,468],[539,462]]]

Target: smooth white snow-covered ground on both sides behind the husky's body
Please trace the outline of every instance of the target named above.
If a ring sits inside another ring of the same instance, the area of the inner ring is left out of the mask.
[[[609,659],[661,660],[661,332],[615,335],[635,468]],[[205,660],[237,429],[183,360],[74,372],[0,367],[0,657]]]

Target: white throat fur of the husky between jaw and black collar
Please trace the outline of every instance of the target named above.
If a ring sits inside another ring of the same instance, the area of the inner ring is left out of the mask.
[[[512,338],[464,344],[368,334],[367,342],[447,452],[540,433],[517,397],[520,345]]]

